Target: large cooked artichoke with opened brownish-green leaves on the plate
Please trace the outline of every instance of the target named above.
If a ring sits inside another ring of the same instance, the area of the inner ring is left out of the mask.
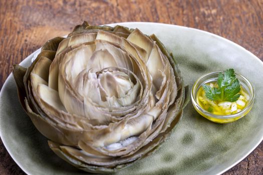
[[[185,88],[152,34],[77,25],[14,65],[19,99],[50,148],[88,172],[114,172],[155,150],[180,119]]]

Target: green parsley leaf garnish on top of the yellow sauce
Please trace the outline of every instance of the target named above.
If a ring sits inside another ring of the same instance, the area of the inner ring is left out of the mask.
[[[210,87],[210,85],[203,84],[205,96],[210,100],[219,101],[236,101],[240,96],[240,82],[235,77],[234,69],[229,68],[223,73],[218,74],[217,78],[218,88]]]

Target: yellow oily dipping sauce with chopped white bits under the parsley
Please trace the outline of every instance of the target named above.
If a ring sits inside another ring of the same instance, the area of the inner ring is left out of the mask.
[[[206,83],[211,87],[218,87],[217,82]],[[240,85],[240,96],[234,101],[213,101],[205,96],[203,87],[200,87],[196,93],[197,103],[208,112],[216,115],[229,115],[240,112],[248,104],[249,95],[247,91]]]

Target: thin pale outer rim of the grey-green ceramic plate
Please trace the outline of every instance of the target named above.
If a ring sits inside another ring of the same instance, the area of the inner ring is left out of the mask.
[[[254,59],[256,59],[258,61],[258,63],[260,63],[262,66],[263,66],[263,61],[258,58],[256,55],[254,55],[252,52],[250,52],[249,50],[247,50],[246,48],[242,47],[241,45],[227,39],[227,38],[224,38],[220,35],[217,35],[217,34],[214,34],[214,33],[211,33],[209,31],[205,31],[205,30],[201,30],[201,29],[198,29],[198,28],[193,28],[193,27],[187,27],[187,26],[182,26],[182,25],[175,25],[175,24],[168,24],[168,23],[160,23],[160,22],[143,22],[143,21],[129,21],[129,22],[116,22],[116,23],[109,23],[109,24],[103,24],[103,25],[125,25],[125,24],[153,24],[153,25],[165,25],[165,26],[172,26],[172,27],[178,27],[178,28],[183,28],[183,29],[190,29],[190,30],[193,30],[193,31],[198,31],[198,32],[202,32],[202,33],[205,33],[205,34],[209,34],[209,35],[212,35],[218,39],[222,39],[223,41],[225,42],[228,42],[229,44],[232,44],[232,45],[235,45],[237,46],[238,48],[242,49],[243,51],[247,52],[251,57],[253,57]],[[26,58],[24,58],[19,64],[20,65],[23,65],[25,64],[26,61],[28,61],[28,59],[30,58],[33,58],[33,56],[38,53],[39,51],[41,50],[41,47],[38,48],[37,50],[35,50],[34,52],[32,52],[30,55],[28,55]],[[13,73],[11,72],[7,79],[5,80],[2,88],[1,88],[1,91],[0,91],[0,98],[1,96],[3,95],[3,89],[6,88],[7,86],[7,81],[10,81],[11,78],[13,78]],[[0,100],[0,105],[2,104],[2,101]],[[1,117],[1,116],[0,116]],[[0,119],[0,122],[1,122],[1,119]],[[3,132],[1,131],[1,128],[0,128],[0,137],[1,137],[1,140],[5,146],[5,148],[7,149],[8,153],[10,154],[10,156],[12,157],[12,159],[18,164],[18,166],[27,174],[30,174],[30,172],[24,168],[23,166],[23,163],[21,163],[19,160],[16,159],[16,156],[13,154],[13,152],[10,150],[7,142],[6,142],[6,139],[5,139],[5,136],[3,134]],[[3,139],[4,138],[4,139]],[[232,168],[233,166],[235,166],[236,164],[238,164],[240,161],[242,161],[245,157],[247,157],[263,140],[263,133],[261,134],[261,138],[258,139],[258,141],[256,142],[256,144],[254,144],[254,146],[252,148],[250,148],[246,153],[244,153],[242,156],[240,156],[240,158],[235,161],[234,163],[230,164],[228,167],[226,168],[222,168],[222,170],[220,170],[219,172],[216,172],[216,174],[222,174],[224,173],[225,171],[229,170],[230,168]]]

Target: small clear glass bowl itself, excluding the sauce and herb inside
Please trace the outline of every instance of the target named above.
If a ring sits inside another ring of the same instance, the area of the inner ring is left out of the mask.
[[[199,114],[204,116],[205,118],[207,118],[213,122],[217,122],[217,123],[229,123],[229,122],[233,122],[233,121],[243,117],[244,115],[246,115],[250,111],[250,109],[252,108],[253,103],[254,103],[255,91],[254,91],[253,85],[251,84],[251,82],[247,78],[245,78],[244,76],[242,76],[240,74],[235,73],[235,76],[239,80],[240,85],[246,90],[246,92],[249,95],[249,100],[248,100],[245,108],[243,108],[240,112],[237,112],[235,114],[229,114],[229,115],[216,115],[214,113],[208,112],[207,110],[203,109],[197,103],[196,93],[197,93],[198,89],[202,86],[202,84],[212,82],[212,81],[217,81],[218,73],[220,73],[220,72],[224,72],[224,71],[216,71],[216,72],[207,73],[207,74],[201,76],[199,79],[197,79],[195,81],[193,87],[192,87],[191,99],[192,99],[192,103],[193,103],[195,110]]]

